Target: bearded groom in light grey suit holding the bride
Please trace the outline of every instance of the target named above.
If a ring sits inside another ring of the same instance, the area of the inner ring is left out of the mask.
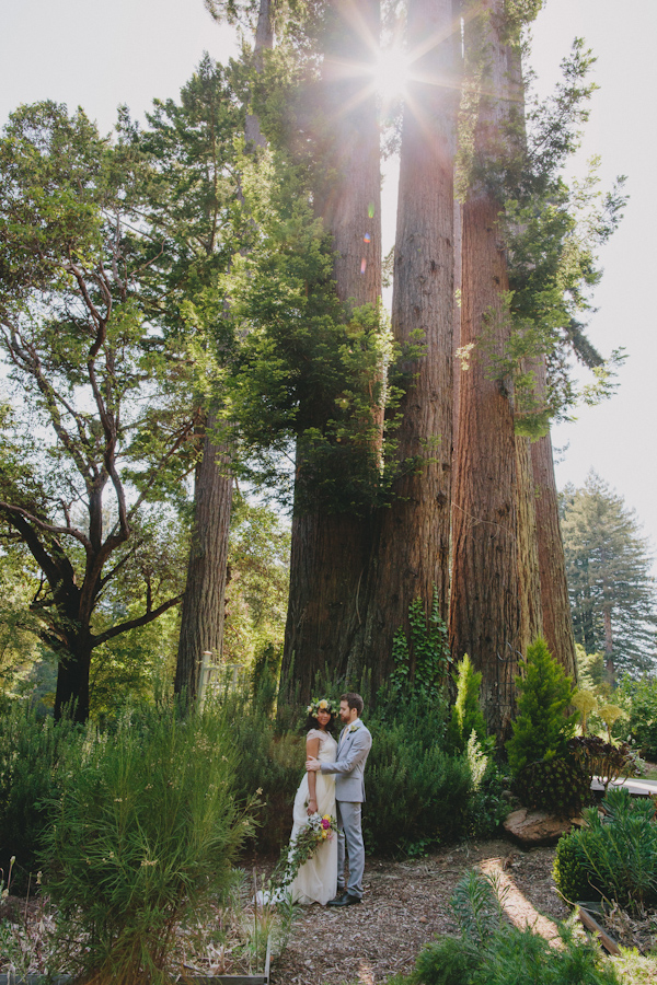
[[[339,717],[344,729],[339,734],[335,763],[320,763],[310,756],[306,763],[309,773],[335,773],[335,801],[337,807],[337,895],[328,906],[350,906],[362,899],[362,872],[365,871],[365,845],[362,843],[361,807],[365,800],[362,774],[372,745],[372,737],[360,721],[362,698],[359,694],[343,694],[339,699]],[[345,841],[349,856],[349,882],[345,892]]]

